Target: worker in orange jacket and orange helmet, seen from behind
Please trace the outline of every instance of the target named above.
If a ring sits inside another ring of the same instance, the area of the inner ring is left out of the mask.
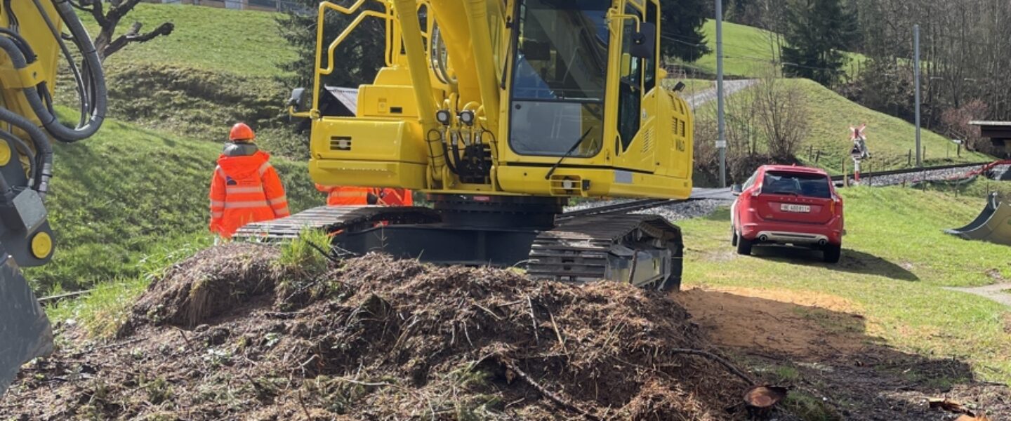
[[[233,126],[210,181],[210,230],[224,238],[250,222],[291,214],[270,155],[259,150],[254,138],[245,123]]]

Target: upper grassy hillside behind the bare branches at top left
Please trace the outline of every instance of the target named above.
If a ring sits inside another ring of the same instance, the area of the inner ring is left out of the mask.
[[[81,14],[94,34],[94,18]],[[279,65],[295,54],[278,34],[274,13],[142,3],[121,22],[151,29],[172,22],[168,36],[130,43],[106,59],[109,113],[143,127],[219,141],[236,121],[258,129],[266,144],[288,156],[307,154],[292,135],[283,105]],[[72,105],[64,72],[58,99]]]

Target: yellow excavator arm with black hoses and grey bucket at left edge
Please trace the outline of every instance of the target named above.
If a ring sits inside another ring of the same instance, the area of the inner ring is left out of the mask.
[[[21,364],[53,349],[49,319],[20,270],[53,257],[44,205],[53,176],[52,140],[85,139],[105,115],[101,63],[74,7],[80,5],[0,2],[0,395]],[[61,122],[54,106],[62,60],[73,73],[80,100],[72,125]]]

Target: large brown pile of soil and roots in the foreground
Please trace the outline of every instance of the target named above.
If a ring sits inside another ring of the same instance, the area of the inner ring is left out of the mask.
[[[26,369],[0,418],[735,419],[748,385],[668,296],[367,255],[205,250],[121,337]]]

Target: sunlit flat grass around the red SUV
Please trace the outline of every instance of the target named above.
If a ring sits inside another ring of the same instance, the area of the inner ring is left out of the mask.
[[[729,212],[680,223],[692,286],[748,287],[829,294],[854,303],[865,334],[924,357],[952,357],[983,379],[1011,383],[1008,309],[943,287],[988,285],[988,271],[1011,277],[1007,247],[941,232],[971,221],[979,198],[900,188],[842,191],[846,203],[843,261],[820,254],[738,256],[729,242]],[[795,257],[795,258],[788,258]],[[728,261],[730,258],[730,261]],[[818,315],[813,315],[818,320]],[[829,329],[832,331],[832,329]]]

